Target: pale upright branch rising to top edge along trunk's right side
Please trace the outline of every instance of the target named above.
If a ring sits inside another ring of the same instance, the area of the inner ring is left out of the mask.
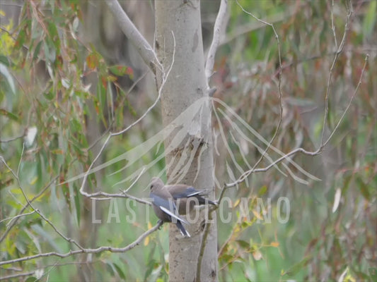
[[[219,13],[217,13],[216,21],[214,24],[214,37],[212,38],[211,47],[209,47],[209,51],[207,54],[207,61],[205,65],[205,74],[207,81],[211,78],[213,69],[214,69],[214,61],[217,48],[220,44],[221,37],[224,36],[222,32],[224,32],[224,25],[225,18],[226,18],[226,8],[228,6],[228,0],[221,0]]]

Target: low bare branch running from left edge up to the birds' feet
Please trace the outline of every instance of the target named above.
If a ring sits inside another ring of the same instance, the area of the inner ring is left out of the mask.
[[[79,255],[79,254],[83,254],[83,253],[85,253],[85,254],[98,254],[98,253],[101,253],[101,252],[127,252],[127,251],[133,249],[134,247],[136,247],[137,245],[139,245],[141,243],[141,241],[144,240],[144,238],[146,238],[146,236],[148,236],[149,234],[158,230],[158,228],[160,228],[162,224],[163,224],[162,221],[158,221],[156,226],[153,226],[151,229],[149,229],[148,231],[141,234],[139,236],[139,238],[137,238],[137,240],[134,240],[134,242],[132,242],[131,244],[129,244],[125,247],[103,246],[103,247],[98,247],[96,249],[70,250],[69,252],[66,252],[65,254],[60,254],[59,252],[45,252],[45,253],[42,253],[42,254],[32,255],[32,256],[28,256],[28,257],[20,257],[18,259],[6,260],[4,262],[0,262],[0,265],[15,264],[16,262],[25,262],[25,261],[28,261],[30,259],[37,259],[37,258],[40,258],[40,257],[61,257],[61,258],[64,258],[64,257],[70,257],[71,255]]]

